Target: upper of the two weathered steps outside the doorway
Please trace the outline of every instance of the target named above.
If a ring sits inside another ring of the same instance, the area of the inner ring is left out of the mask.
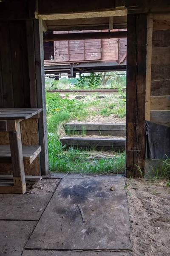
[[[120,136],[125,137],[125,124],[101,124],[101,123],[67,123],[65,124],[65,132],[70,135],[86,134],[99,136]]]

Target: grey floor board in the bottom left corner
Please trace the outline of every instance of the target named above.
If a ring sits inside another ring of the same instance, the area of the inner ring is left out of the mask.
[[[19,256],[37,221],[0,221],[0,253]]]

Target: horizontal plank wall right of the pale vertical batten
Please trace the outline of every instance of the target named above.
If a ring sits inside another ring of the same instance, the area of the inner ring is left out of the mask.
[[[150,121],[170,125],[170,14],[153,15]]]

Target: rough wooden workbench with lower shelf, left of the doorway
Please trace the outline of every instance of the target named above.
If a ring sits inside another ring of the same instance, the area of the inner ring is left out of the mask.
[[[32,161],[40,154],[41,146],[22,146],[20,122],[39,118],[42,108],[0,108],[0,131],[8,131],[9,145],[0,145],[0,162],[12,163],[13,184],[0,183],[0,193],[25,193],[24,161]],[[29,127],[28,127],[29,129]]]

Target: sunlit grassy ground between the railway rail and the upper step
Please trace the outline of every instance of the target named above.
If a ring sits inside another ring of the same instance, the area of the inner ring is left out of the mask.
[[[71,119],[81,121],[88,116],[114,114],[118,118],[125,117],[125,99],[120,99],[120,95],[108,95],[103,99],[97,99],[98,95],[86,96],[84,99],[62,99],[58,93],[46,93],[47,115],[55,112],[67,111]]]

